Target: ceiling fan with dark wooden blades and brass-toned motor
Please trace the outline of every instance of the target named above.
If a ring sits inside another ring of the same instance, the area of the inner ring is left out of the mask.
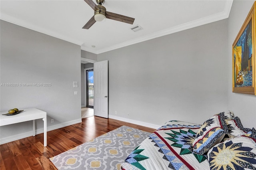
[[[116,20],[120,22],[125,22],[128,24],[133,24],[134,18],[123,16],[120,14],[115,14],[112,12],[106,11],[106,8],[102,6],[105,0],[96,0],[96,5],[92,0],[84,0],[92,9],[94,10],[94,16],[84,25],[84,29],[89,29],[96,21],[102,21],[106,18],[111,20]]]

